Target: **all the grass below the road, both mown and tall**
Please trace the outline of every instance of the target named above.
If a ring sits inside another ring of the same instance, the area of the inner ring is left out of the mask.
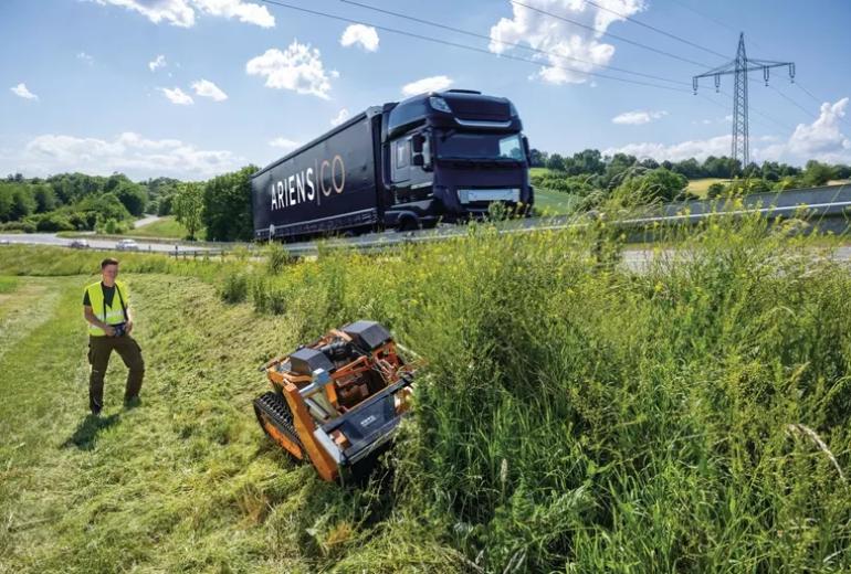
[[[2,336],[0,563],[847,572],[851,277],[785,231],[718,217],[642,273],[605,222],[297,263],[128,256],[145,403],[117,406],[113,360],[98,424],[88,279],[53,276],[90,254],[12,247],[0,274],[42,276]],[[429,366],[389,466],[342,488],[272,448],[250,401],[258,364],[360,318]]]

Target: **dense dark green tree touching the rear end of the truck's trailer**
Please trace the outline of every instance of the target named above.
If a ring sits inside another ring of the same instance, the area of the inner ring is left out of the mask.
[[[210,241],[250,241],[254,236],[251,213],[251,176],[258,171],[248,166],[240,171],[211,179],[203,188],[201,219]]]

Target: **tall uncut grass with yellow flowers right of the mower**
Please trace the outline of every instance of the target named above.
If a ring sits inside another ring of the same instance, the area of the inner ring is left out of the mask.
[[[845,572],[851,277],[795,227],[654,231],[640,268],[597,220],[204,273],[287,340],[369,318],[428,361],[392,485],[311,527],[324,567]]]

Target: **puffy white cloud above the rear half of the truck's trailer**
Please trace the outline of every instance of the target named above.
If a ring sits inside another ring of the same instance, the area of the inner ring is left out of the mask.
[[[325,74],[319,51],[309,44],[300,44],[297,40],[284,52],[273,47],[249,60],[245,72],[264,76],[266,87],[292,89],[298,94],[313,94],[329,99],[330,82]]]

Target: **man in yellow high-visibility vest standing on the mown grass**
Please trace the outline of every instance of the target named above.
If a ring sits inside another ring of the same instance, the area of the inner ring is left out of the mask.
[[[127,386],[124,404],[127,407],[139,403],[141,380],[145,376],[145,361],[139,343],[130,337],[130,293],[124,281],[116,280],[118,261],[112,257],[101,262],[102,280],[93,283],[83,295],[83,310],[88,321],[88,407],[92,414],[101,414],[104,401],[104,375],[113,350],[127,365]]]

